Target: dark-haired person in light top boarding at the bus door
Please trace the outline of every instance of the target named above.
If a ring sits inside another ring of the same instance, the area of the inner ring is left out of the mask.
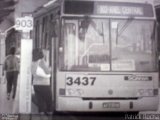
[[[50,86],[50,68],[46,65],[43,51],[34,49],[32,52],[32,75],[35,97],[37,99],[39,113],[47,114],[51,112],[52,98]],[[38,74],[38,68],[41,68],[43,75]],[[44,76],[46,74],[46,76]]]

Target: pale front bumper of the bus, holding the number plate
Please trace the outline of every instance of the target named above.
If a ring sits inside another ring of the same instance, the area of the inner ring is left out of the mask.
[[[136,100],[83,100],[75,97],[59,97],[56,111],[70,112],[132,112],[156,111],[159,96],[143,97]]]

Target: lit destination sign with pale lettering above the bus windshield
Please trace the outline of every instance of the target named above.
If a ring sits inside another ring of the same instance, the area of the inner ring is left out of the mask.
[[[97,3],[95,10],[98,15],[153,17],[153,10],[150,4]]]

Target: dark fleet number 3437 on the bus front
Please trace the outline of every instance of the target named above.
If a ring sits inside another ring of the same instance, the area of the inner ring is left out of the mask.
[[[67,86],[93,86],[95,84],[96,77],[88,76],[67,76],[66,85]]]

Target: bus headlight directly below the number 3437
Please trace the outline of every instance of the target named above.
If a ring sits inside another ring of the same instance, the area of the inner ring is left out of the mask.
[[[82,96],[83,93],[82,89],[66,89],[66,96]]]

